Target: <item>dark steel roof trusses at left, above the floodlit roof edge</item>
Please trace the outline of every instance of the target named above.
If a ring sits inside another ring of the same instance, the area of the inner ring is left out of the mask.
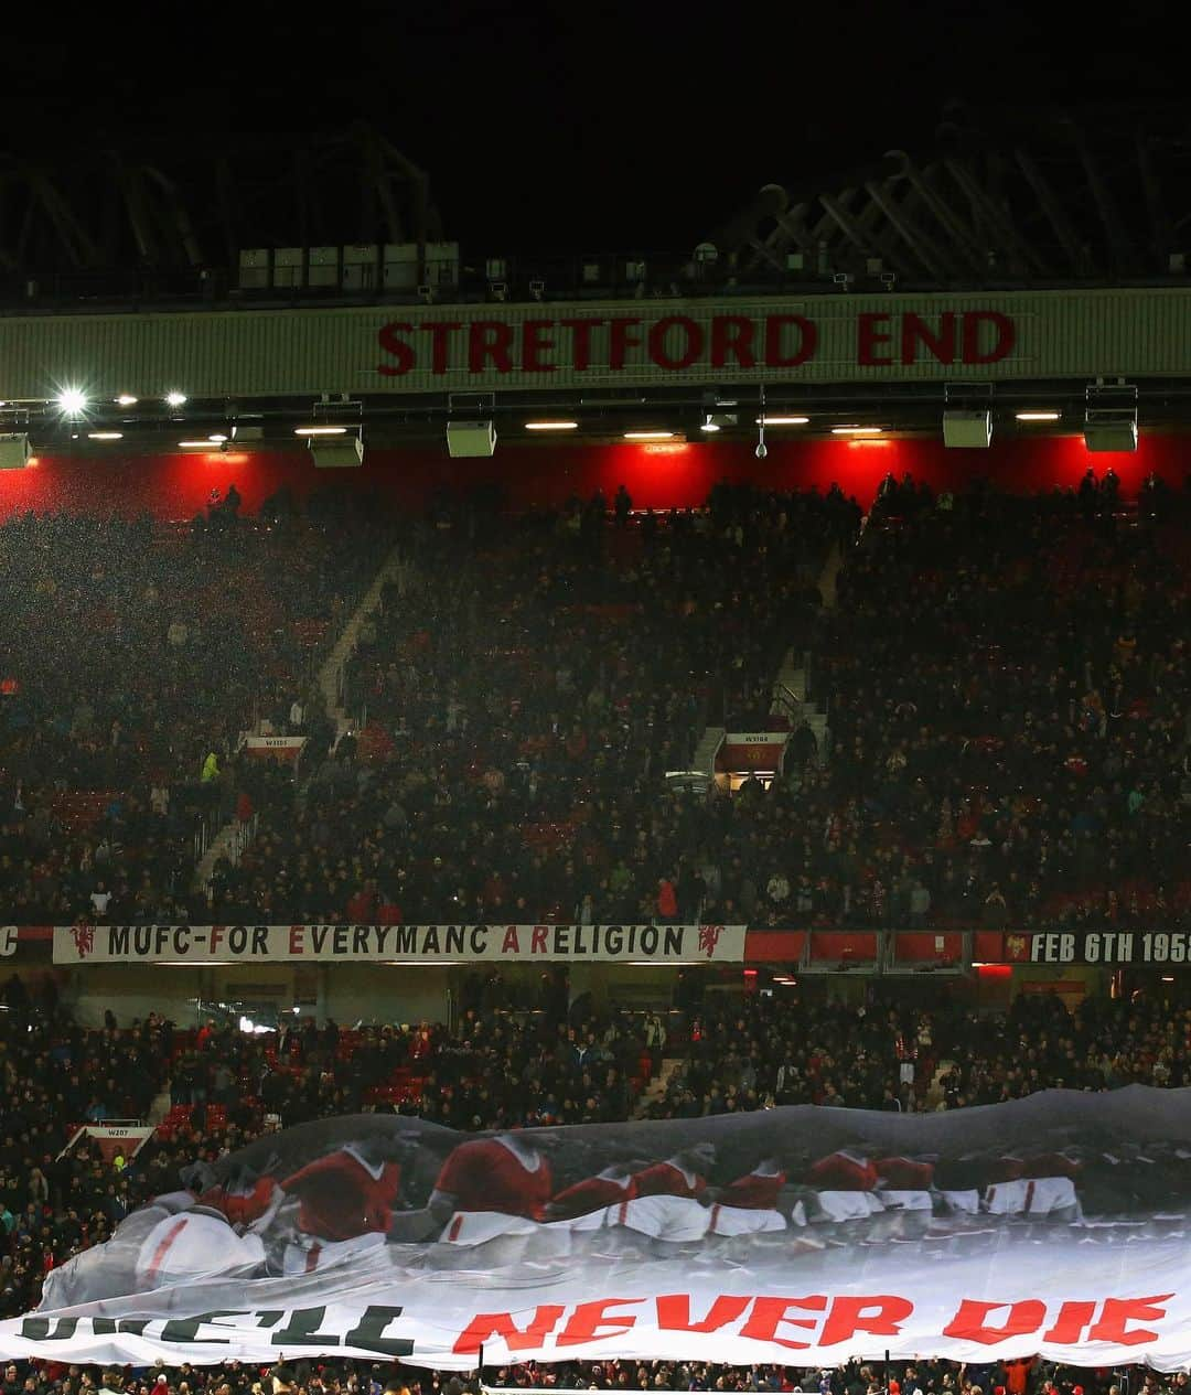
[[[202,146],[0,155],[0,273],[156,272],[188,286],[244,247],[421,243],[438,236],[427,174],[375,128]]]

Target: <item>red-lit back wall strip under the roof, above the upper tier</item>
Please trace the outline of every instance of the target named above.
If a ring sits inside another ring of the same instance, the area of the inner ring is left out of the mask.
[[[234,481],[244,511],[287,484],[304,498],[335,485],[361,494],[379,491],[406,508],[421,506],[439,487],[467,491],[499,483],[513,508],[561,504],[570,494],[602,488],[611,499],[623,481],[640,508],[699,505],[717,480],[752,481],[764,488],[826,490],[833,480],[869,505],[877,484],[893,470],[909,470],[936,490],[964,491],[987,476],[1008,491],[1075,485],[1092,465],[1112,465],[1125,495],[1156,470],[1167,483],[1183,483],[1191,459],[1185,438],[1142,437],[1135,453],[1095,455],[1082,437],[1007,441],[989,451],[947,451],[941,441],[789,441],[770,435],[768,458],[757,460],[746,442],[689,445],[499,445],[485,460],[452,460],[443,451],[370,451],[363,469],[315,470],[305,451],[220,455],[43,456],[26,470],[0,473],[0,516],[21,509],[187,519],[205,508],[212,488]]]

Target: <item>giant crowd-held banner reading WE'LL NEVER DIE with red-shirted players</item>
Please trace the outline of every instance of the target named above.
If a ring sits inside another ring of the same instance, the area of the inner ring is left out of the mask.
[[[6,1357],[1191,1360],[1191,1091],[456,1134],[321,1120],[195,1165]]]

